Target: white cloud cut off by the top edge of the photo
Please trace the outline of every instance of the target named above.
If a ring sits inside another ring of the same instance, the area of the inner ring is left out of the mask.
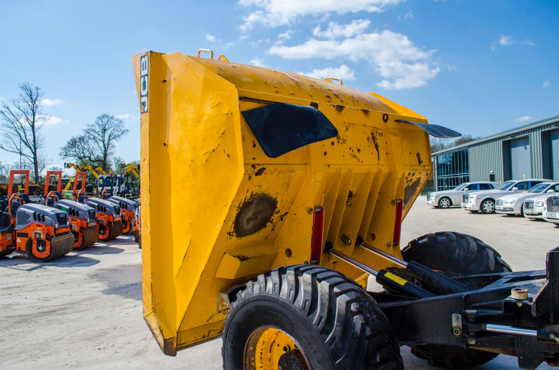
[[[401,0],[240,0],[239,4],[256,8],[244,18],[241,30],[252,29],[255,23],[275,27],[287,25],[298,16],[309,14],[338,14],[366,12],[382,12],[386,6],[395,5]]]

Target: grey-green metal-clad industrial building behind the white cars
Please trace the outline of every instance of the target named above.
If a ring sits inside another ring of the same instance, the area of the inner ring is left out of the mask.
[[[559,116],[438,151],[432,160],[438,191],[470,181],[559,181]]]

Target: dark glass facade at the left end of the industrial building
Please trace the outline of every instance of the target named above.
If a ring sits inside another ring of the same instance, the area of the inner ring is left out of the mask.
[[[470,181],[468,148],[437,155],[437,190],[448,190]]]

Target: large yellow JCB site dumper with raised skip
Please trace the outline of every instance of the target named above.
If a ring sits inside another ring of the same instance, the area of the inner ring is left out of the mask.
[[[464,234],[400,243],[429,134],[457,132],[333,78],[201,51],[132,58],[144,318],[165,354],[222,336],[224,369],[398,369],[401,344],[447,367],[553,357],[550,340],[503,334],[553,324],[517,310],[543,285],[534,272],[511,279]]]

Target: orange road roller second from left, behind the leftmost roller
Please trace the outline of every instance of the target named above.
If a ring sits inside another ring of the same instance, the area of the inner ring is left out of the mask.
[[[46,184],[48,185],[51,175],[58,175],[58,189],[53,193],[53,197],[46,196],[46,205],[54,207],[57,210],[64,211],[70,218],[70,229],[74,236],[74,250],[80,250],[87,246],[93,245],[99,239],[99,230],[97,227],[97,214],[93,207],[90,207],[85,202],[85,195],[83,188],[86,182],[86,173],[76,171],[73,182],[73,200],[64,199],[61,197],[61,181],[62,171],[47,171]],[[82,189],[77,191],[78,182],[81,179]],[[45,189],[48,186],[45,186]],[[51,201],[51,203],[49,202]]]

